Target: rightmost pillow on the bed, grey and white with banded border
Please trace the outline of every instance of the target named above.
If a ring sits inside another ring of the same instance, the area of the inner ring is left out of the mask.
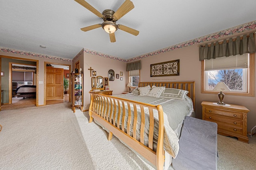
[[[188,94],[188,91],[186,90],[166,88],[164,92],[161,94],[160,98],[175,98],[185,100],[186,94]]]

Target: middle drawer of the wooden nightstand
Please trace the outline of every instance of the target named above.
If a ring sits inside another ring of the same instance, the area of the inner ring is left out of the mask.
[[[214,115],[214,114],[205,114],[204,119],[208,120],[208,121],[214,121],[214,122],[223,122],[223,123],[227,123],[229,125],[234,125],[237,127],[242,127],[242,125],[243,125],[242,120],[220,117],[220,116]]]

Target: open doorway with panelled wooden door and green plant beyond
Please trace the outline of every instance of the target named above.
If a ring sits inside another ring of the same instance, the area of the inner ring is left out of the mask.
[[[71,65],[45,62],[45,104],[70,102]]]

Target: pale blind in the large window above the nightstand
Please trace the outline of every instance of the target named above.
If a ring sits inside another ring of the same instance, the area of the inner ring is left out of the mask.
[[[248,68],[249,54],[204,60],[204,70],[228,70]]]

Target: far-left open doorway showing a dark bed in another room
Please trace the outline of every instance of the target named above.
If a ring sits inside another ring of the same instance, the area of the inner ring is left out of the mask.
[[[38,60],[1,56],[1,72],[5,72],[1,76],[2,110],[38,106]],[[24,85],[34,86],[33,92],[18,96],[16,90]]]

